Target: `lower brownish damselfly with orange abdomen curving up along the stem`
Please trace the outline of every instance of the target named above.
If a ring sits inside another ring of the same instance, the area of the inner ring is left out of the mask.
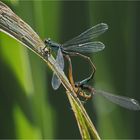
[[[137,100],[129,97],[114,95],[103,90],[95,90],[92,86],[87,84],[90,79],[87,80],[85,79],[84,81],[75,83],[73,80],[72,64],[69,56],[67,56],[67,60],[69,62],[69,81],[73,86],[74,91],[77,93],[77,96],[84,97],[86,100],[88,100],[94,94],[100,95],[105,97],[110,102],[115,103],[123,108],[134,110],[134,111],[140,110],[140,104]]]

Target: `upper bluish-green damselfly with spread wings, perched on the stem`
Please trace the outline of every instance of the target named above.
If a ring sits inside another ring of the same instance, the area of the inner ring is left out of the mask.
[[[92,63],[91,59],[82,53],[93,53],[101,51],[105,48],[105,45],[102,42],[91,40],[93,38],[98,37],[102,33],[104,33],[108,29],[108,25],[105,23],[97,24],[96,26],[93,26],[89,28],[88,30],[84,31],[80,35],[76,36],[75,38],[67,41],[64,44],[58,44],[51,39],[46,39],[45,44],[46,46],[50,47],[52,50],[57,51],[56,56],[56,64],[59,65],[59,67],[64,70],[64,58],[63,56],[69,55],[69,56],[80,56],[89,61],[90,65],[92,66],[92,74],[87,78],[91,79],[95,73],[95,66]],[[53,73],[52,77],[52,87],[53,89],[58,89],[61,84],[60,79]]]

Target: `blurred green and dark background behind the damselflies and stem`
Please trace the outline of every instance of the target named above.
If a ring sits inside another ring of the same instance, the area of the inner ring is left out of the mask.
[[[90,55],[97,89],[140,101],[140,2],[3,1],[44,40],[64,43],[101,22],[109,29],[98,39],[106,48]],[[75,81],[90,66],[73,58]],[[78,67],[77,67],[78,66]],[[67,64],[65,66],[67,69]],[[67,70],[66,70],[67,71]],[[0,32],[0,138],[81,138],[61,86],[51,87],[52,71],[33,52]],[[140,112],[94,97],[85,108],[100,137],[140,138]]]

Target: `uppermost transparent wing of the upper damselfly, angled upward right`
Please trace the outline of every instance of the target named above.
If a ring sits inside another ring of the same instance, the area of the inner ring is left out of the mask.
[[[105,23],[100,23],[97,24],[85,32],[81,33],[77,37],[67,41],[64,43],[62,46],[67,47],[71,45],[76,45],[76,44],[83,44],[85,42],[89,42],[91,39],[98,37],[102,33],[104,33],[108,29],[108,25]]]

